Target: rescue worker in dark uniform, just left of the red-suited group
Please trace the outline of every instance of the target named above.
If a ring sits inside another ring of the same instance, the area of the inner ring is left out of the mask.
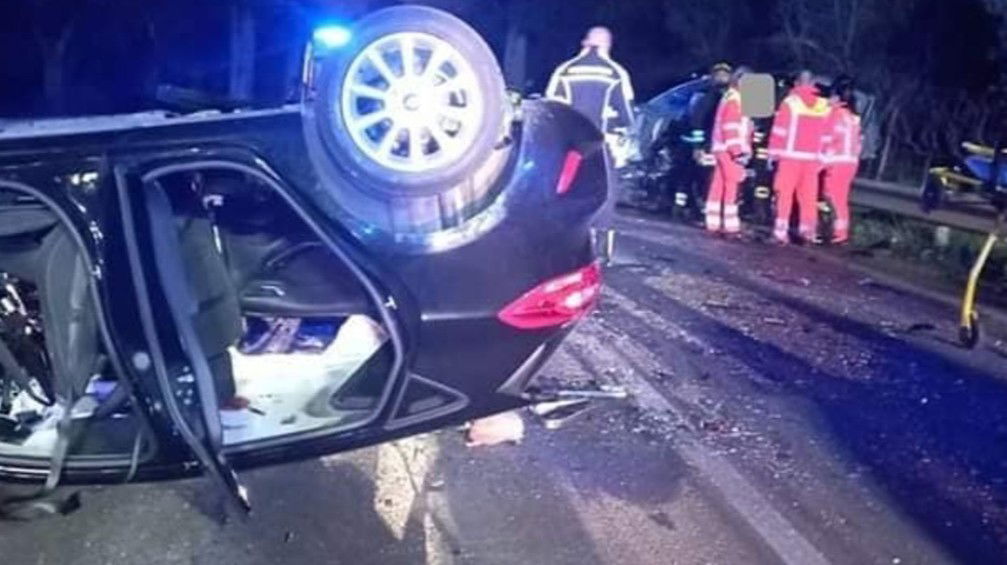
[[[687,114],[688,132],[681,140],[691,149],[688,160],[682,163],[682,174],[675,192],[676,209],[689,210],[696,220],[703,216],[701,202],[706,200],[710,186],[711,133],[724,92],[731,85],[733,68],[727,62],[710,67],[708,85],[689,101]]]

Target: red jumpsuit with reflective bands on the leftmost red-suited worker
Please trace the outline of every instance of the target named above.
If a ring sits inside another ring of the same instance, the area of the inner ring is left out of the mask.
[[[706,197],[706,229],[727,234],[741,231],[738,218],[738,185],[745,168],[738,160],[751,156],[751,120],[741,113],[741,92],[730,88],[720,100],[711,136],[716,166]]]

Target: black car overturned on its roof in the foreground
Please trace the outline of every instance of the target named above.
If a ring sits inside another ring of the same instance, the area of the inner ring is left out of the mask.
[[[421,7],[319,29],[298,105],[7,124],[0,479],[247,506],[235,469],[528,404],[599,294],[601,143]]]

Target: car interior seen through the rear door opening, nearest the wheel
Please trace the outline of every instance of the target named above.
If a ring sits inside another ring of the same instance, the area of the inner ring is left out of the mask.
[[[342,261],[271,187],[234,172],[178,173],[171,202],[195,330],[225,444],[362,422],[392,349]]]

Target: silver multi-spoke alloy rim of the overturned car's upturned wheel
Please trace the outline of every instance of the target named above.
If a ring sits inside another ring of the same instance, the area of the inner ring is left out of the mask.
[[[479,81],[457,49],[410,31],[361,50],[334,110],[367,157],[395,171],[425,172],[465,155],[482,127],[483,104]]]

